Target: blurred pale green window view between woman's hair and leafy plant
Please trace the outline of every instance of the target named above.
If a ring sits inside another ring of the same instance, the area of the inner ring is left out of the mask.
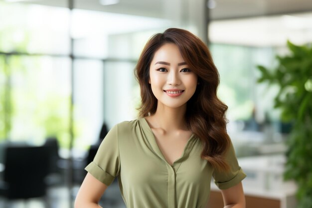
[[[220,74],[218,95],[228,105],[229,121],[255,119],[261,124],[279,121],[279,112],[273,109],[277,88],[258,84],[258,64],[274,64],[274,47],[252,47],[212,43],[210,50]],[[246,127],[245,127],[246,128]],[[256,129],[252,129],[256,130]],[[276,129],[279,131],[279,129]]]

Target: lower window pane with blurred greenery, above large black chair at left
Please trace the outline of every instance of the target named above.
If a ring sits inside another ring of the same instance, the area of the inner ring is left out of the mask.
[[[70,61],[49,56],[10,56],[11,141],[43,143],[47,136],[68,147]]]

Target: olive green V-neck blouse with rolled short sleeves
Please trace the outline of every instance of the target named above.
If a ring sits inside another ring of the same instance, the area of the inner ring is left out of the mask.
[[[153,131],[144,118],[114,126],[86,170],[109,186],[118,177],[127,208],[205,208],[211,177],[219,189],[245,178],[231,148],[228,173],[218,172],[200,158],[202,143],[194,134],[172,166],[163,157]]]

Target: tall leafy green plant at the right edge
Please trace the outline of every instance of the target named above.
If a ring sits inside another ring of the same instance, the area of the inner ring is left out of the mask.
[[[312,45],[288,41],[287,46],[290,54],[277,56],[276,67],[258,66],[258,82],[280,88],[274,107],[281,110],[283,121],[293,124],[287,139],[284,178],[298,185],[297,208],[312,208]]]

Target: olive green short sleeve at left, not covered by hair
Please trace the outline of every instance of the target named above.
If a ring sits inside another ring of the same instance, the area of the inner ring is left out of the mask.
[[[118,125],[103,139],[94,160],[85,168],[93,177],[109,186],[120,172]]]

